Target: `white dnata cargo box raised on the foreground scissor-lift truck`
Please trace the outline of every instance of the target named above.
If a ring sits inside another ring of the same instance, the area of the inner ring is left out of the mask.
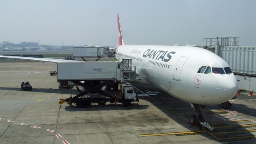
[[[59,62],[59,80],[121,80],[121,62]]]

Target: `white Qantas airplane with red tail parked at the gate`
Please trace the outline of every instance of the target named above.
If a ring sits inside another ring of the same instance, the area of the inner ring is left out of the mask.
[[[185,102],[194,110],[191,124],[201,124],[213,130],[201,114],[206,105],[225,104],[238,90],[237,80],[228,64],[216,54],[194,46],[125,45],[118,20],[118,41],[113,54],[116,58],[132,59],[136,66],[135,82],[150,84]],[[51,58],[0,56],[45,62],[66,62]]]

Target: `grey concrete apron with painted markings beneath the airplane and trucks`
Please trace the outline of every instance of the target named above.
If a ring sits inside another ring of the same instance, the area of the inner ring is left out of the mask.
[[[256,96],[241,94],[225,110],[207,106],[204,119],[214,131],[188,123],[190,105],[154,86],[131,83],[142,91],[139,102],[58,105],[78,94],[59,89],[50,62],[0,60],[0,144],[227,144],[256,143]],[[32,91],[23,91],[22,82]],[[143,96],[144,95],[144,96]]]

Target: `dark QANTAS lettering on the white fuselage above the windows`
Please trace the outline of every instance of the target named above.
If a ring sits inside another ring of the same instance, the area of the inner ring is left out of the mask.
[[[176,52],[168,52],[164,50],[151,50],[148,49],[144,52],[143,57],[144,58],[150,58],[152,60],[161,60],[164,62],[168,62],[171,58],[171,54],[175,54]]]

